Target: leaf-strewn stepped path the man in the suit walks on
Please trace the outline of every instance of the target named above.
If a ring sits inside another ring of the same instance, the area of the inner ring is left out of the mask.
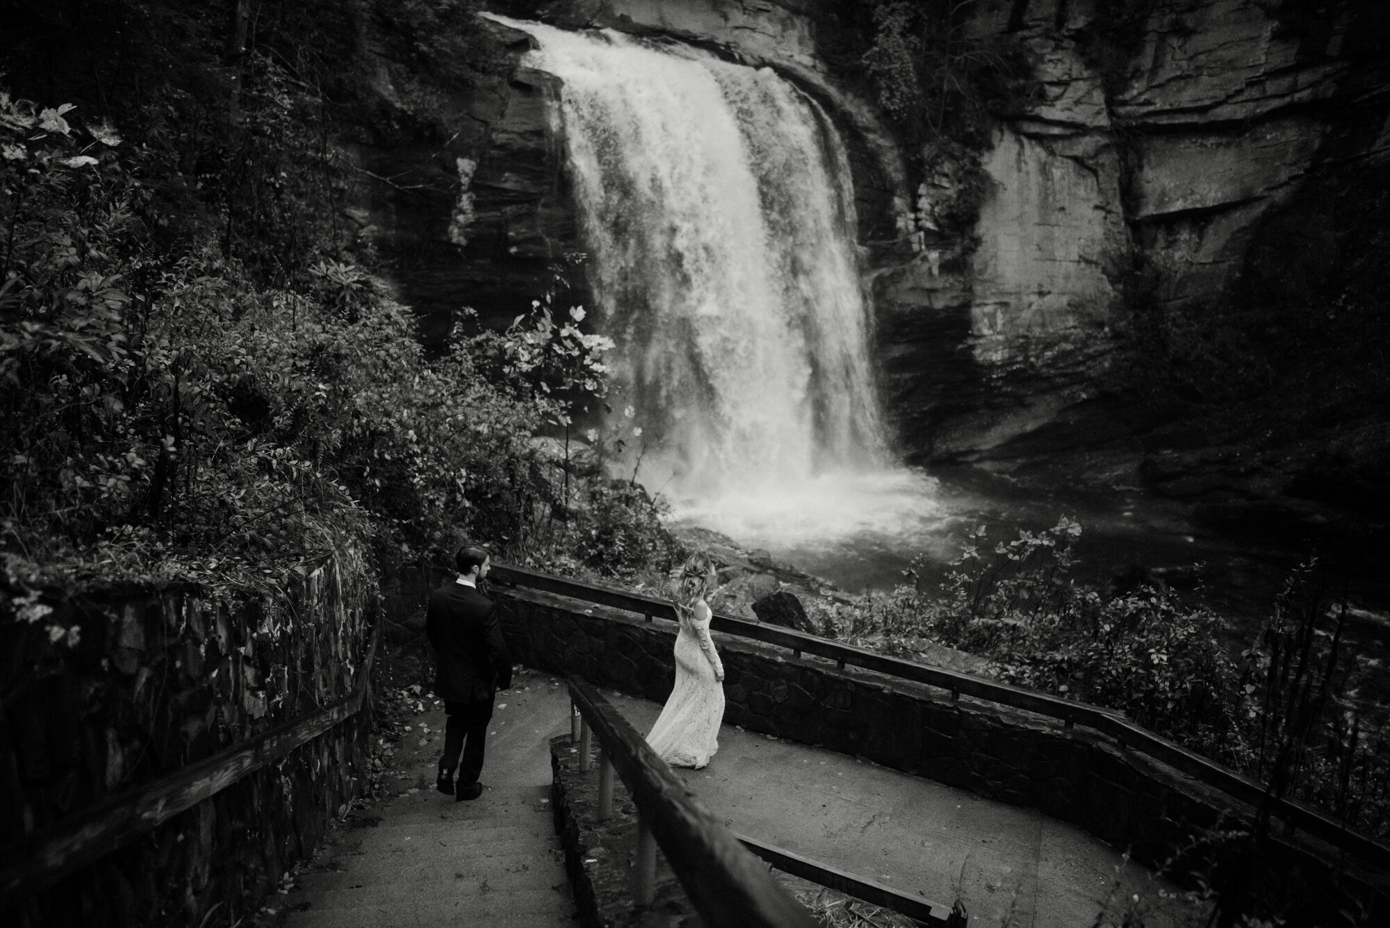
[[[550,815],[548,739],[569,731],[569,692],[521,670],[499,693],[484,792],[435,792],[443,707],[417,715],[396,749],[398,795],[354,811],[285,902],[291,928],[574,925]],[[428,706],[428,703],[427,703]],[[421,725],[424,728],[421,728]],[[388,779],[388,782],[391,782]]]

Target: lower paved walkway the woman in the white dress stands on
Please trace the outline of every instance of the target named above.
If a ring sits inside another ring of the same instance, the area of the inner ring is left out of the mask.
[[[605,696],[639,732],[660,714]],[[972,928],[1076,928],[1126,904],[1144,913],[1131,924],[1182,924],[1172,884],[1031,809],[731,725],[709,767],[676,772],[749,838],[947,906],[959,893]]]

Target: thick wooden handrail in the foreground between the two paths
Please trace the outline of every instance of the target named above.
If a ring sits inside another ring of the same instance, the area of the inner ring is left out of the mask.
[[[815,920],[758,857],[685,790],[685,784],[603,696],[569,677],[570,699],[598,732],[642,827],[660,846],[708,925],[813,928]]]

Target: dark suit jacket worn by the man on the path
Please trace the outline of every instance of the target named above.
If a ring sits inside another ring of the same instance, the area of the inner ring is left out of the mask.
[[[480,703],[510,689],[512,657],[498,625],[496,604],[467,583],[445,583],[430,595],[425,636],[439,670],[435,695],[450,703]]]

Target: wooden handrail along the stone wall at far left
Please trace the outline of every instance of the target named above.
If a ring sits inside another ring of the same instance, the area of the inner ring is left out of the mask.
[[[152,784],[108,796],[78,815],[54,822],[0,852],[0,911],[7,911],[53,881],[120,850],[174,815],[211,799],[243,777],[356,715],[367,700],[379,629],[378,622],[373,628],[357,682],[348,696]]]

